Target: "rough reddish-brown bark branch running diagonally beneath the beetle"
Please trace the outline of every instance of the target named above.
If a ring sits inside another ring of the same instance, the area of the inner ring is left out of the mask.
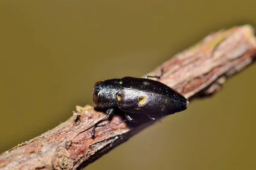
[[[256,39],[249,25],[209,34],[196,45],[172,57],[148,75],[182,93],[189,101],[220,90],[227,77],[241,71],[256,56]],[[0,170],[82,169],[135,133],[153,124],[148,119],[128,123],[121,114],[91,130],[105,113],[77,106],[73,116],[52,130],[0,155]]]

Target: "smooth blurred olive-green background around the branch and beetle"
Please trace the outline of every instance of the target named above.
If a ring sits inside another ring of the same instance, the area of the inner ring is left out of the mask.
[[[249,23],[255,0],[0,0],[0,152],[92,105],[98,80],[140,77],[212,31]],[[256,168],[256,65],[112,150],[88,170]]]

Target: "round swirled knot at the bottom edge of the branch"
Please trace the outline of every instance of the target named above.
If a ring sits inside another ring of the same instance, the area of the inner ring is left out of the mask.
[[[52,160],[54,170],[70,170],[73,167],[73,161],[70,154],[64,147],[59,147]]]

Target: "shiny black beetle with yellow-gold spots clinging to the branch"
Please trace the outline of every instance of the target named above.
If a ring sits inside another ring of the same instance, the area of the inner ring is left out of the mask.
[[[96,108],[106,111],[107,116],[96,122],[92,130],[95,135],[96,126],[111,117],[115,110],[124,112],[128,121],[134,119],[127,113],[146,114],[151,120],[155,117],[174,114],[187,109],[187,99],[169,86],[145,76],[144,78],[123,77],[98,81],[93,89],[93,102]]]

